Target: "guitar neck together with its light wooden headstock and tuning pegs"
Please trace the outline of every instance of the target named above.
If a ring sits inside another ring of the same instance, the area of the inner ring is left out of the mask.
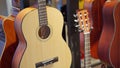
[[[84,33],[84,68],[91,68],[91,54],[90,54],[90,31],[91,23],[89,22],[87,10],[80,10],[77,12],[80,32]]]

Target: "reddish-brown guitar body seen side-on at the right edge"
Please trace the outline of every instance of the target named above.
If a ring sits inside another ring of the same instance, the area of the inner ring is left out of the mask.
[[[120,1],[107,0],[103,7],[103,30],[98,46],[101,61],[120,68]]]

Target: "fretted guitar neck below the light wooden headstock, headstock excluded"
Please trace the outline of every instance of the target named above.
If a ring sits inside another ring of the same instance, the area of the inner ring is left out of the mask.
[[[85,58],[84,58],[84,65],[85,68],[91,68],[91,54],[90,54],[90,33],[84,34],[85,36]]]

